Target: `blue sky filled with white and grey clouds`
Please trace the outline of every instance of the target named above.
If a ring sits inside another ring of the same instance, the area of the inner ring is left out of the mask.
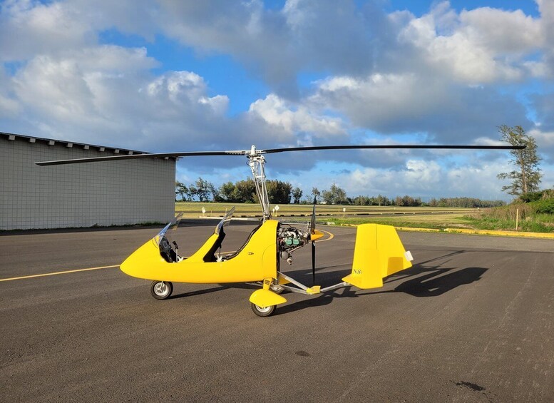
[[[553,0],[0,1],[0,131],[149,152],[501,144],[554,186]],[[511,200],[506,151],[267,155],[309,195]],[[177,179],[250,175],[245,157]]]

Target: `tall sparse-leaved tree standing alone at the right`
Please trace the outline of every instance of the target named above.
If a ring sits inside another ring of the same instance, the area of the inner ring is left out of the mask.
[[[525,130],[521,126],[509,127],[502,125],[498,128],[503,141],[510,143],[512,146],[526,146],[523,150],[511,150],[511,164],[515,165],[515,170],[511,172],[499,173],[498,179],[511,179],[511,185],[502,187],[502,191],[507,191],[509,195],[521,195],[523,193],[533,192],[538,190],[540,173],[538,164],[540,157],[537,154],[537,143],[533,136],[525,134]]]

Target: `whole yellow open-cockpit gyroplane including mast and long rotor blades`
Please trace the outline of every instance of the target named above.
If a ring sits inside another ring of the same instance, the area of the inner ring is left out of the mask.
[[[199,151],[183,153],[145,153],[116,155],[74,160],[56,160],[36,163],[37,165],[61,165],[68,163],[87,163],[106,160],[135,158],[187,157],[193,155],[245,155],[249,160],[255,181],[257,197],[263,210],[260,224],[252,230],[246,242],[236,252],[222,254],[220,250],[225,238],[225,225],[230,223],[233,210],[222,218],[214,233],[204,245],[190,257],[180,256],[176,243],[170,243],[168,230],[176,228],[180,217],[176,217],[153,239],[148,240],[133,252],[120,265],[125,274],[145,280],[151,280],[150,292],[158,300],[165,300],[173,291],[173,282],[190,283],[237,283],[261,282],[262,288],[252,292],[250,305],[252,311],[261,317],[270,316],[277,305],[287,302],[281,292],[300,292],[305,295],[317,295],[331,292],[341,287],[354,286],[369,289],[383,286],[383,279],[396,272],[411,267],[411,253],[404,245],[394,227],[389,225],[363,224],[356,230],[352,272],[342,278],[342,282],[329,287],[312,285],[307,287],[279,270],[280,260],[290,262],[292,253],[311,243],[312,280],[315,278],[315,242],[323,233],[317,230],[315,200],[312,220],[306,228],[273,220],[270,213],[270,201],[265,182],[265,154],[287,151],[337,150],[337,149],[518,149],[521,146],[314,146],[297,148],[274,148],[257,150],[252,146],[247,151]]]

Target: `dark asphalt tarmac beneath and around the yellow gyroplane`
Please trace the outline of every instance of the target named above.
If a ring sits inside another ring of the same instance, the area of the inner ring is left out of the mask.
[[[175,231],[191,253],[215,222]],[[381,289],[284,293],[177,284],[117,265],[160,228],[0,235],[0,402],[554,402],[554,240],[399,233],[414,267]],[[252,223],[232,223],[223,250]],[[317,282],[352,265],[354,228],[317,243]],[[310,248],[282,270],[311,285]],[[100,267],[100,268],[99,268]]]

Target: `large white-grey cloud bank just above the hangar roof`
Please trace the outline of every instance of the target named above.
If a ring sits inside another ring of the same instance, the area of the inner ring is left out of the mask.
[[[215,141],[227,96],[210,96],[203,78],[188,71],[153,78],[153,66],[144,49],[97,46],[36,56],[5,80],[19,120],[40,122],[36,136],[126,147],[132,136],[133,148],[146,150],[168,149],[181,136]]]

